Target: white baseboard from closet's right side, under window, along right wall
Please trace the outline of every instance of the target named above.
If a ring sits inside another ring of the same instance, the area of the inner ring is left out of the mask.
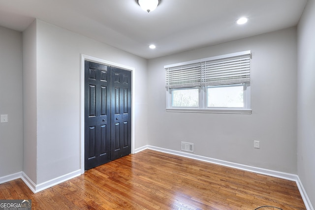
[[[273,170],[269,170],[269,169],[263,169],[263,168],[243,165],[243,164],[239,164],[239,163],[233,163],[233,162],[228,162],[228,161],[224,161],[224,160],[214,159],[214,158],[210,158],[210,157],[200,156],[200,155],[196,155],[196,154],[192,154],[192,153],[176,151],[176,150],[168,150],[168,149],[149,146],[149,145],[141,147],[138,150],[142,151],[145,149],[156,150],[156,151],[160,151],[160,152],[164,152],[164,153],[188,157],[188,158],[195,159],[195,160],[200,160],[200,161],[214,163],[214,164],[227,166],[227,167],[231,167],[231,168],[236,168],[236,169],[240,169],[240,170],[244,170],[244,171],[249,171],[249,172],[253,172],[253,173],[257,173],[257,174],[263,174],[263,175],[277,177],[277,178],[281,178],[281,179],[285,179],[285,180],[295,181],[297,186],[298,186],[298,189],[300,191],[300,194],[301,194],[301,197],[303,199],[306,210],[314,210],[314,208],[312,207],[311,201],[306,194],[306,191],[303,187],[303,184],[302,184],[299,176],[297,176],[295,174],[288,174],[288,173],[284,173],[284,172],[273,171]]]

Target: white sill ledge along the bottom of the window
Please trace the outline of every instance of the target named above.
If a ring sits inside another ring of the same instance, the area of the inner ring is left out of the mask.
[[[174,109],[174,108],[167,108],[166,112],[252,114],[251,109]]]

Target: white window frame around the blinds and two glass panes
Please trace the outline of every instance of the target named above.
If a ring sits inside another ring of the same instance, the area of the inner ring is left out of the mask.
[[[224,59],[224,58],[231,58],[235,56],[242,56],[242,55],[250,55],[251,60],[251,51],[243,51],[238,53],[232,53],[222,56],[210,57],[206,59],[200,60],[191,60],[182,63],[176,63],[171,65],[164,66],[165,70],[169,67],[180,66],[187,63],[204,61],[204,60],[217,60],[217,59]],[[166,71],[167,72],[167,71]],[[166,76],[167,78],[167,76]],[[208,100],[208,89],[209,88],[216,88],[216,87],[231,87],[231,86],[240,86],[243,84],[243,101],[244,107],[208,107],[207,100]],[[188,90],[188,89],[198,89],[198,103],[199,107],[173,107],[172,105],[172,91],[173,90]],[[205,83],[200,84],[197,87],[183,87],[183,88],[167,88],[166,87],[166,112],[190,112],[190,113],[224,113],[224,114],[252,114],[251,109],[251,82],[240,82],[237,84],[220,84],[220,85],[208,85]]]

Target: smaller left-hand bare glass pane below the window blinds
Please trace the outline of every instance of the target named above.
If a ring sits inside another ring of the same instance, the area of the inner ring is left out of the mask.
[[[198,107],[199,93],[198,89],[173,89],[172,106],[173,107]]]

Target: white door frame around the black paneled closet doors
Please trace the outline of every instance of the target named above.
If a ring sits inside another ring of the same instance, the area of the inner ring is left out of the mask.
[[[126,66],[123,64],[111,62],[108,60],[98,59],[92,56],[81,54],[81,72],[80,72],[80,141],[81,141],[81,160],[80,160],[80,166],[81,166],[81,174],[84,174],[84,61],[92,61],[96,63],[100,63],[103,65],[110,65],[115,66],[118,68],[126,69],[128,71],[131,71],[131,153],[135,153],[135,144],[134,144],[134,131],[135,131],[135,119],[134,119],[134,113],[135,113],[135,68]]]

